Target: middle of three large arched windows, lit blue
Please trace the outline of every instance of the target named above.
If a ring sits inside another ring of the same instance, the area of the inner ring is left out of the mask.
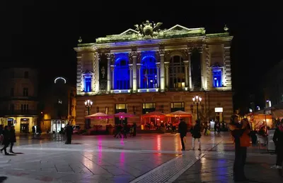
[[[157,88],[157,69],[154,56],[144,56],[141,60],[141,89]]]

